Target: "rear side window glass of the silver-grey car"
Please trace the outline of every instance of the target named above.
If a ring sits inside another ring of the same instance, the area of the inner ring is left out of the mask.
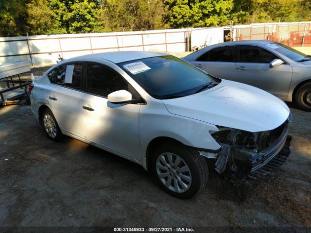
[[[224,46],[218,47],[212,50],[209,50],[197,61],[206,61],[206,62],[234,62],[234,51],[235,46]]]

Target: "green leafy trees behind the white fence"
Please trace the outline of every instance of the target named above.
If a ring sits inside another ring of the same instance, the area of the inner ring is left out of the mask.
[[[311,20],[310,0],[0,0],[0,36]]]

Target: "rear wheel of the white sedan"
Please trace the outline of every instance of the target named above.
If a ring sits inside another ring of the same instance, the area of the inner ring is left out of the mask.
[[[63,133],[60,131],[54,115],[50,109],[45,109],[42,114],[41,122],[48,137],[53,141],[59,141],[63,138]]]

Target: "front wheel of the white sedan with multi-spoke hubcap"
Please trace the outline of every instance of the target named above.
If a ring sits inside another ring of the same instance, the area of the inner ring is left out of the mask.
[[[205,158],[197,150],[177,143],[155,149],[152,171],[166,192],[182,199],[196,196],[208,179]]]

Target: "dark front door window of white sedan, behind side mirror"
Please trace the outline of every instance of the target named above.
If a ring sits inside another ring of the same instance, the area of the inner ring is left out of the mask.
[[[119,90],[129,91],[133,100],[140,100],[136,90],[117,71],[104,65],[87,65],[87,92],[107,97]]]

